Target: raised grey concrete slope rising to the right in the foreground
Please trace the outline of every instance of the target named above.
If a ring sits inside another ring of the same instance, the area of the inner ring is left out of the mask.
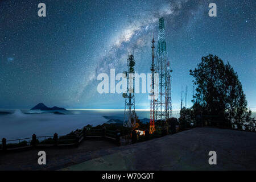
[[[109,152],[63,170],[255,170],[256,133],[196,128]]]

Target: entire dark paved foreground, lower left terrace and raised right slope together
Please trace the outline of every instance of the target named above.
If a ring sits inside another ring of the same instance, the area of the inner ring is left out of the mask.
[[[255,170],[256,133],[196,128],[174,135],[117,147],[85,140],[78,148],[49,148],[46,165],[38,149],[0,155],[0,170]],[[209,151],[217,165],[209,165]]]

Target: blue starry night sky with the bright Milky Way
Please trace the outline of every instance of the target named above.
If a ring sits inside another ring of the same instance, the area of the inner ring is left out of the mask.
[[[46,4],[46,17],[38,4]],[[217,17],[209,17],[209,3]],[[151,39],[158,18],[166,23],[172,72],[172,108],[181,86],[193,85],[189,69],[202,56],[217,55],[238,73],[248,107],[256,110],[256,1],[254,0],[31,0],[0,1],[0,108],[47,106],[123,109],[122,94],[97,92],[97,75],[127,70],[150,73]],[[156,38],[157,39],[157,38]],[[149,109],[148,94],[135,94],[137,109]]]

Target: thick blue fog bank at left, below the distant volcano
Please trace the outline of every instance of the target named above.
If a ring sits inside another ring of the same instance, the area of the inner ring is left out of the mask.
[[[15,110],[13,114],[0,115],[0,139],[7,140],[29,138],[32,134],[39,136],[65,135],[72,130],[90,125],[100,125],[108,121],[99,114],[24,114]]]

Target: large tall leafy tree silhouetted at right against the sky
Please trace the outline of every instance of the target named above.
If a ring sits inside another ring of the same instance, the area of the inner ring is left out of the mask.
[[[231,127],[231,119],[250,117],[242,84],[230,64],[224,64],[217,56],[202,57],[195,70],[190,70],[194,77],[196,94],[194,105],[201,107],[203,115],[209,115],[220,126]],[[240,127],[240,126],[238,126]]]

